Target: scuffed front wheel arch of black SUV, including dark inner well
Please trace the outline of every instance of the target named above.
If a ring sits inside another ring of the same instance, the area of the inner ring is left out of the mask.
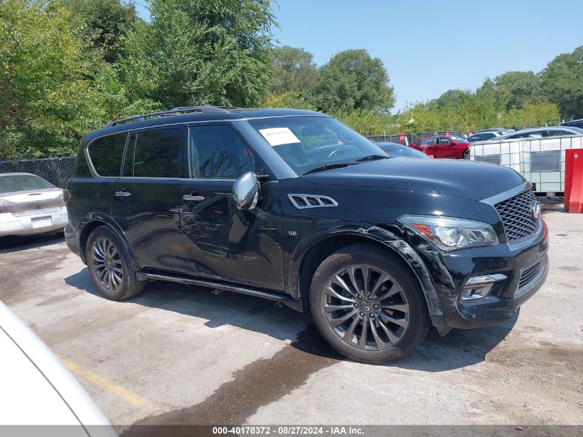
[[[311,280],[319,264],[330,253],[354,243],[373,244],[398,255],[411,269],[422,288],[432,324],[435,327],[445,327],[442,304],[424,262],[406,241],[379,226],[342,229],[342,231],[319,235],[306,244],[300,244],[290,262],[288,275],[290,293],[295,298],[306,298],[310,293]]]

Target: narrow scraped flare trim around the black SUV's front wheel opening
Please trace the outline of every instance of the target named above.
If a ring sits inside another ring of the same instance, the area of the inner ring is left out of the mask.
[[[298,244],[290,258],[288,287],[292,295],[303,297],[301,294],[304,296],[307,294],[302,293],[299,289],[299,274],[301,272],[302,262],[310,249],[313,249],[316,244],[322,243],[328,238],[339,237],[342,235],[351,235],[383,244],[387,249],[399,255],[399,257],[411,267],[417,280],[419,280],[433,326],[446,326],[442,304],[439,300],[439,295],[437,295],[437,291],[435,290],[435,284],[433,284],[431,275],[422,259],[417,255],[417,252],[415,252],[407,242],[402,240],[402,238],[395,233],[379,226],[370,226],[370,224],[344,223],[339,224],[332,230],[328,227],[326,230],[313,233],[310,237],[304,239]]]

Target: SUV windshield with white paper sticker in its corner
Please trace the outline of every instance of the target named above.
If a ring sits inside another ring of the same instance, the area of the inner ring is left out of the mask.
[[[297,175],[330,164],[358,164],[370,155],[386,156],[354,130],[329,117],[279,117],[249,123]]]

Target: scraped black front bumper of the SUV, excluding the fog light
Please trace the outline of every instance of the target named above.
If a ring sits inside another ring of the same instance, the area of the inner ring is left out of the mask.
[[[517,244],[450,253],[424,245],[417,252],[435,283],[446,327],[475,328],[511,320],[542,287],[549,273],[548,249],[549,232],[540,219],[537,233]],[[493,274],[506,278],[493,284],[484,298],[462,300],[468,279]]]

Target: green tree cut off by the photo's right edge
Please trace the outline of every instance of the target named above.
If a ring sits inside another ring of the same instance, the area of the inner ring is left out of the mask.
[[[540,72],[542,93],[566,119],[583,118],[583,46],[553,59]]]

